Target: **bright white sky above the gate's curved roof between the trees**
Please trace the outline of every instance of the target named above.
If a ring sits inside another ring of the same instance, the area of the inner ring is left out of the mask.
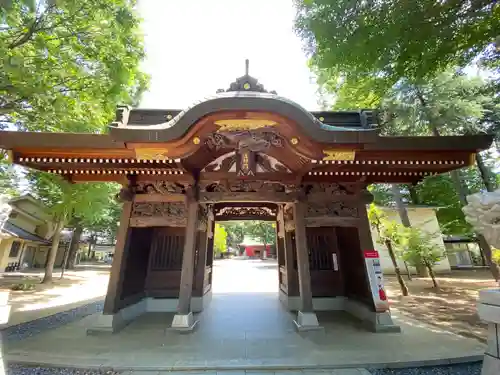
[[[139,0],[151,75],[142,108],[183,109],[249,73],[318,110],[315,79],[293,31],[292,0]]]

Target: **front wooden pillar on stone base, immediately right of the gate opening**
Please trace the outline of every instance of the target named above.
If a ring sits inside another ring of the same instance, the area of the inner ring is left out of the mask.
[[[297,270],[299,274],[301,310],[298,312],[297,319],[294,323],[299,331],[321,329],[318,318],[314,313],[312,302],[305,214],[305,203],[303,201],[295,202],[293,205],[293,218],[295,220],[295,241],[297,248]]]

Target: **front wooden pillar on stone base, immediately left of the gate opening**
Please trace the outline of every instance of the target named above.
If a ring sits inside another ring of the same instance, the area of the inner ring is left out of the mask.
[[[172,328],[191,331],[196,325],[191,312],[191,296],[193,294],[194,257],[196,246],[196,230],[198,221],[198,202],[193,197],[187,198],[187,224],[182,255],[181,283],[177,313],[172,320]]]

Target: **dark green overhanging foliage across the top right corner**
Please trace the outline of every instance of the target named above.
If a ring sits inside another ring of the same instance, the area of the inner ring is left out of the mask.
[[[312,64],[349,80],[425,81],[495,51],[496,1],[296,0]],[[488,61],[493,60],[489,59]]]

